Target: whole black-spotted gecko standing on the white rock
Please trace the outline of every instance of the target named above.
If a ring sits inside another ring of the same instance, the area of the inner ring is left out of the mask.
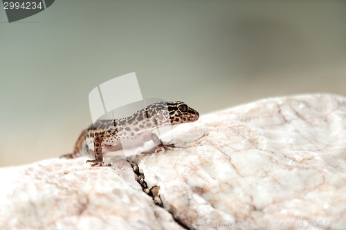
[[[157,151],[172,149],[174,144],[165,145],[155,133],[156,128],[187,122],[196,122],[199,113],[184,102],[156,102],[137,111],[129,117],[103,119],[91,124],[78,137],[73,153],[62,155],[65,158],[93,154],[94,160],[86,160],[91,166],[111,166],[103,162],[103,152],[119,151],[122,143],[141,146],[152,140]]]

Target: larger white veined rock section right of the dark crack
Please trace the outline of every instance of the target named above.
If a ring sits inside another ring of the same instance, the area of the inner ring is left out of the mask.
[[[145,156],[139,168],[189,227],[311,229],[308,221],[322,220],[346,229],[345,97],[264,99],[204,115],[163,142],[189,147]]]

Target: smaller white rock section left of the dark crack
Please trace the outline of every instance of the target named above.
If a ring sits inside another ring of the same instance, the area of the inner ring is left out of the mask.
[[[183,229],[153,204],[125,157],[82,157],[2,169],[0,229]]]

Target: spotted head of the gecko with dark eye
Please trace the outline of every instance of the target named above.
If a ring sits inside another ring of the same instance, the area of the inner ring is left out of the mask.
[[[184,102],[167,102],[167,110],[171,125],[196,122],[199,119],[199,113]]]

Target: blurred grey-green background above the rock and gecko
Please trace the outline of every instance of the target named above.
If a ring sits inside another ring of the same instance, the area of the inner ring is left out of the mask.
[[[14,23],[1,8],[0,41],[0,166],[70,153],[89,92],[126,73],[200,113],[346,95],[346,1],[57,0]]]

